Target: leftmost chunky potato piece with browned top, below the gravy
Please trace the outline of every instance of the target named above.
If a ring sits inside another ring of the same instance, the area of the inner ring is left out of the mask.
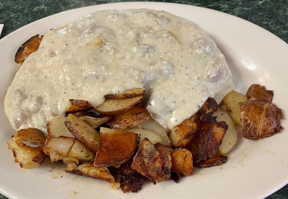
[[[45,159],[43,145],[46,137],[36,128],[18,130],[7,142],[8,149],[12,151],[14,161],[23,169],[39,167]]]

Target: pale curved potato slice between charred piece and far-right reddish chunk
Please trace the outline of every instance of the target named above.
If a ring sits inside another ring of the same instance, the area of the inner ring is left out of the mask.
[[[223,110],[219,107],[218,110],[214,112],[213,116],[217,116],[217,121],[225,121],[228,125],[228,129],[226,130],[222,143],[219,147],[219,153],[222,155],[226,155],[236,144],[237,129],[233,119],[230,117],[229,113],[226,110]]]

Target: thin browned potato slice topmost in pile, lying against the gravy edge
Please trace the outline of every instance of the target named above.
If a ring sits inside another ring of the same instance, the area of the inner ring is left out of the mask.
[[[145,94],[146,94],[145,89],[135,88],[135,89],[130,89],[122,93],[118,93],[118,94],[108,94],[108,95],[105,95],[105,98],[111,99],[111,100],[124,100],[128,98],[136,98],[139,96],[144,96]]]

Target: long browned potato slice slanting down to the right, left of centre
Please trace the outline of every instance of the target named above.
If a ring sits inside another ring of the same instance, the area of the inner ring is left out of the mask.
[[[74,114],[69,114],[66,117],[65,125],[80,142],[84,143],[94,153],[97,152],[99,133],[90,124]]]

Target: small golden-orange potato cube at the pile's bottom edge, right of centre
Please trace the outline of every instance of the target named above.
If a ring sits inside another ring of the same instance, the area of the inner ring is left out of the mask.
[[[175,149],[171,152],[172,173],[191,176],[194,172],[192,153],[187,149]]]

